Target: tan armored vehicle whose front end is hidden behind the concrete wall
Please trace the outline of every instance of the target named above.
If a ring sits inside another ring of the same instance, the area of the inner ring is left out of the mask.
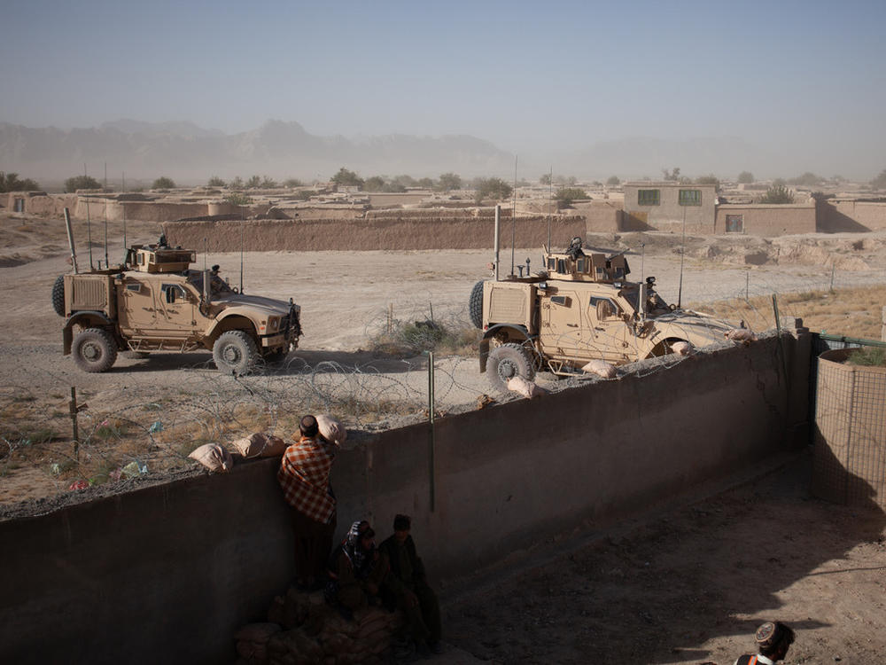
[[[625,364],[672,352],[676,342],[703,347],[735,326],[667,304],[655,278],[627,281],[623,254],[585,254],[581,239],[563,254],[544,247],[545,270],[478,282],[470,317],[483,331],[480,372],[496,389],[535,372],[566,376],[588,361]]]

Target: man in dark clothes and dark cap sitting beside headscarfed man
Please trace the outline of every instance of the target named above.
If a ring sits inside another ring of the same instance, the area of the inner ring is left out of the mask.
[[[391,567],[385,578],[385,596],[389,606],[400,607],[406,614],[407,629],[418,652],[442,653],[439,602],[437,594],[428,586],[424,564],[409,535],[411,528],[408,515],[397,515],[393,520],[393,536],[379,548],[387,555]]]

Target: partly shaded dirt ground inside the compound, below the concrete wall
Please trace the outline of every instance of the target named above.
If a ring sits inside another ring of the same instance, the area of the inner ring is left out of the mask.
[[[785,663],[886,662],[886,514],[811,497],[810,467],[804,452],[472,578],[447,640],[501,663],[732,665],[773,620],[797,632]]]

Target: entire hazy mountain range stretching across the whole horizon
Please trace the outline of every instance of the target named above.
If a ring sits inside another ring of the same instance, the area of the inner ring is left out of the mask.
[[[846,154],[832,148],[831,157],[820,148],[815,143],[761,147],[737,137],[627,137],[579,144],[568,151],[521,153],[517,175],[534,182],[548,172],[549,164],[554,165],[555,175],[588,180],[613,175],[622,180],[656,179],[663,168],[674,167],[686,176],[713,173],[721,178],[734,178],[742,170],[759,177],[791,177],[805,170],[829,176],[831,171],[852,168],[873,177],[882,168],[879,157],[867,163],[859,159],[858,150],[848,146]],[[132,180],[169,176],[181,184],[203,183],[209,176],[312,181],[329,178],[341,167],[364,177],[436,177],[453,171],[466,178],[499,176],[511,180],[514,159],[514,153],[465,135],[322,137],[309,134],[298,122],[277,120],[238,134],[203,129],[190,121],[118,120],[89,129],[34,129],[0,122],[0,171],[13,171],[44,185],[81,174],[84,164],[89,175],[99,179],[106,164],[114,182],[119,182],[124,172]]]

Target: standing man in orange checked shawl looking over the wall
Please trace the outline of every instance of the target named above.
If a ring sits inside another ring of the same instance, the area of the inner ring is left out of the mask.
[[[320,438],[317,419],[305,416],[299,423],[299,441],[286,449],[277,471],[291,506],[295,583],[307,591],[323,586],[335,534],[336,501],[330,487],[335,453],[335,445]]]

